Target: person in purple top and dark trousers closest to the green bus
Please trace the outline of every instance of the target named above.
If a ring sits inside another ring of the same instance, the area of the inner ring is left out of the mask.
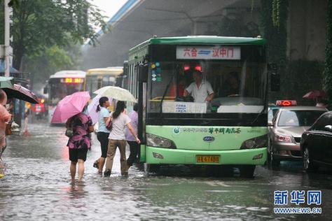
[[[134,104],[134,109],[132,110],[132,112],[130,113],[130,116],[129,116],[130,120],[131,120],[132,128],[135,131],[135,134],[137,134],[137,126],[138,126],[137,110],[138,110],[138,104]],[[139,143],[137,143],[136,138],[134,136],[132,136],[132,134],[130,133],[128,128],[125,131],[125,139],[130,146],[130,155],[127,159],[127,166],[129,169],[130,166],[132,166],[132,164],[134,162],[138,161]]]

